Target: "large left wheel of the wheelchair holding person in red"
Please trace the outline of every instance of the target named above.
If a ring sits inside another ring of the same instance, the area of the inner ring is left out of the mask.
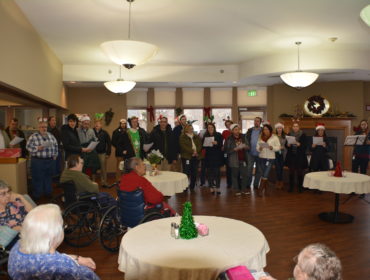
[[[127,227],[121,225],[117,205],[105,212],[100,222],[99,241],[103,248],[109,252],[117,252],[122,236],[127,232]]]

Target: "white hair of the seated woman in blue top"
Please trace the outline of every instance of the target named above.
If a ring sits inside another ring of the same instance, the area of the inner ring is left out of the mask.
[[[33,208],[23,221],[20,249],[25,254],[47,254],[63,241],[63,219],[56,204]]]

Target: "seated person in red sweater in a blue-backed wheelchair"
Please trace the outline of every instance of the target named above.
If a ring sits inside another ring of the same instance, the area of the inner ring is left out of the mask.
[[[162,209],[169,210],[171,215],[176,214],[176,212],[164,201],[163,194],[143,177],[146,172],[146,166],[140,158],[133,157],[126,160],[124,172],[120,180],[120,190],[131,192],[139,187],[144,194],[146,209],[161,205]]]

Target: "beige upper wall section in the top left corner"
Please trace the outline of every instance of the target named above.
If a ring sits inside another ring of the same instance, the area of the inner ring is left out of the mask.
[[[14,1],[0,1],[0,82],[65,107],[62,64]]]

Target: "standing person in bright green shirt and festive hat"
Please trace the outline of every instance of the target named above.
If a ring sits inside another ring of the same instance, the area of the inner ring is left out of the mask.
[[[139,126],[138,117],[132,116],[128,119],[128,123],[130,128],[127,129],[127,135],[130,141],[126,143],[124,150],[128,153],[131,150],[135,157],[143,159],[145,157],[144,144],[147,143],[148,134]]]

